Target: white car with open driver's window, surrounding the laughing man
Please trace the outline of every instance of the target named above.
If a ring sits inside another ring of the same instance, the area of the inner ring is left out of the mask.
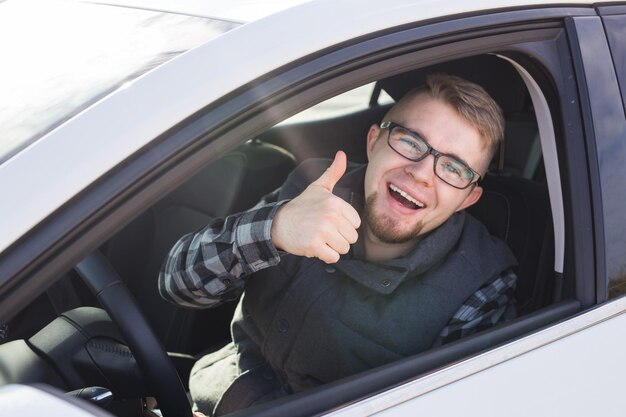
[[[163,301],[168,249],[306,159],[366,162],[434,72],[503,109],[468,211],[518,259],[519,316],[237,415],[622,415],[626,2],[277,3],[0,3],[3,415],[191,415],[234,304]]]

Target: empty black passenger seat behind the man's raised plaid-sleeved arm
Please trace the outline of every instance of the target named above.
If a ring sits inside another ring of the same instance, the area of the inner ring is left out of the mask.
[[[164,301],[157,277],[166,254],[183,235],[211,219],[252,207],[278,188],[295,165],[282,148],[249,141],[165,196],[102,248],[168,350],[195,353],[229,337],[234,303],[194,311]]]

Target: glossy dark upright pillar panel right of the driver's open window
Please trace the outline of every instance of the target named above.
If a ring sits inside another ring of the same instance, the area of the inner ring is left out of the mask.
[[[616,233],[619,236],[615,224],[619,226],[622,222],[625,191],[623,184],[614,182],[626,175],[623,165],[626,120],[615,67],[602,65],[612,63],[613,56],[601,18],[574,17],[567,19],[566,24],[574,40],[572,55],[582,108],[585,159],[589,165],[588,193],[593,207],[595,256],[586,262],[592,264],[590,275],[595,276],[596,295],[589,304],[602,303],[608,299],[609,270],[619,268],[620,263],[624,268],[623,255],[614,238]],[[607,241],[609,236],[613,238],[611,241]]]

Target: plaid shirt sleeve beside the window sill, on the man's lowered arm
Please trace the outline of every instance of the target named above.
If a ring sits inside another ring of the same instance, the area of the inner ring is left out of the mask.
[[[517,275],[509,268],[472,294],[443,328],[434,346],[443,345],[516,317]]]

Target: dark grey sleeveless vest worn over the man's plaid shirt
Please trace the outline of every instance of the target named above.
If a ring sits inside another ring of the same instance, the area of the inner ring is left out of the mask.
[[[328,165],[301,165],[279,200],[300,194]],[[333,190],[359,212],[364,172],[353,169]],[[404,257],[361,259],[357,242],[335,265],[285,255],[255,273],[232,322],[234,343],[192,370],[199,409],[224,414],[424,351],[470,295],[515,264],[464,212]]]

